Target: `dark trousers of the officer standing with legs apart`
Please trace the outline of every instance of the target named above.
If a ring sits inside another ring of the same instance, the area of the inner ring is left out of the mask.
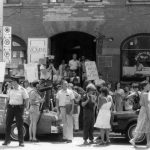
[[[8,105],[6,114],[6,129],[5,129],[5,141],[10,141],[11,125],[13,123],[14,117],[16,119],[16,125],[18,128],[18,139],[19,143],[24,142],[23,138],[23,105]]]

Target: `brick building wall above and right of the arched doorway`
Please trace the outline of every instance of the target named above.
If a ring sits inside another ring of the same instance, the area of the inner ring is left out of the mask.
[[[126,0],[47,2],[22,0],[20,7],[5,7],[4,25],[12,26],[13,34],[26,43],[28,37],[51,37],[67,31],[82,31],[93,36],[100,32],[113,37],[113,42],[104,41],[102,55],[113,56],[109,78],[115,81],[120,78],[121,42],[133,34],[150,33],[150,5],[126,5]]]

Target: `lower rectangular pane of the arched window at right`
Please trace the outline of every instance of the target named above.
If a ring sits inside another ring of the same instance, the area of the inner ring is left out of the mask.
[[[122,52],[122,77],[142,80],[150,76],[149,50],[124,50]]]

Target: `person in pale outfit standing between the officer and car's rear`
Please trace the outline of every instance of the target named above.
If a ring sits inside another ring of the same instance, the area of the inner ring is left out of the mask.
[[[30,126],[29,126],[29,138],[30,141],[37,142],[36,138],[36,129],[37,129],[37,122],[40,115],[40,103],[44,101],[44,98],[42,99],[40,94],[38,93],[37,87],[38,82],[33,82],[33,90],[29,93],[29,112],[30,112]]]

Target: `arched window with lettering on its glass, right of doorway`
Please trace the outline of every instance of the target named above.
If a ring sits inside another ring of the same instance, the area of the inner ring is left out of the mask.
[[[150,34],[142,33],[121,44],[121,80],[142,81],[150,76]]]

